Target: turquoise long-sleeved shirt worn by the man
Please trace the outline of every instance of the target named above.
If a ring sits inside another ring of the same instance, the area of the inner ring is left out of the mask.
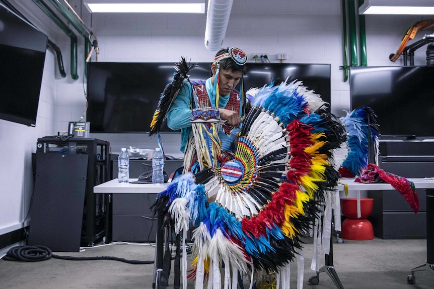
[[[212,85],[211,78],[205,82],[206,92],[208,93],[209,101],[211,104],[215,103],[215,89]],[[193,88],[189,82],[184,82],[175,101],[167,113],[167,126],[172,130],[181,130],[181,151],[184,152],[185,146],[188,142],[188,137],[192,131],[190,117],[191,117],[191,95]],[[221,95],[219,101],[219,108],[224,109],[229,101],[228,95]],[[236,133],[239,129],[233,129],[231,136],[227,136],[222,128],[220,128],[219,136],[222,140],[222,150],[232,151],[231,145],[235,141]]]

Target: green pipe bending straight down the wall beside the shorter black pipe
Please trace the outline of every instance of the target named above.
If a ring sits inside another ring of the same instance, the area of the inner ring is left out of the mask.
[[[79,79],[77,74],[77,36],[74,34],[69,27],[60,20],[57,15],[47,6],[42,0],[33,0],[33,2],[38,6],[71,40],[70,48],[70,63],[71,63],[71,78],[74,80]]]

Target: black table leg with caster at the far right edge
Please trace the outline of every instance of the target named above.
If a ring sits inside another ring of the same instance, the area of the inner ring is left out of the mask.
[[[407,283],[414,284],[414,272],[428,271],[434,274],[434,189],[426,189],[426,263],[411,269]]]

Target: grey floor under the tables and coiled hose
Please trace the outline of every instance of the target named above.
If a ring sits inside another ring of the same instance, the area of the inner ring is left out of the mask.
[[[345,240],[333,243],[333,263],[344,288],[434,288],[434,274],[416,272],[415,284],[407,284],[410,270],[426,262],[426,240]],[[87,247],[82,252],[61,252],[56,255],[94,257],[114,256],[128,260],[154,260],[155,248],[149,244],[112,244]],[[326,273],[320,274],[317,285],[308,282],[315,271],[310,269],[313,245],[304,246],[304,288],[336,288]],[[190,255],[188,256],[190,259]],[[189,260],[191,261],[191,260]],[[324,264],[324,258],[321,265]],[[173,268],[173,266],[172,266]],[[114,260],[73,261],[51,258],[40,262],[0,260],[1,289],[152,288],[153,264],[135,265]],[[297,288],[297,265],[291,265],[291,287]],[[246,277],[245,280],[249,278]],[[168,288],[173,287],[173,273]],[[189,281],[188,288],[194,288]],[[245,281],[248,288],[248,281]]]

